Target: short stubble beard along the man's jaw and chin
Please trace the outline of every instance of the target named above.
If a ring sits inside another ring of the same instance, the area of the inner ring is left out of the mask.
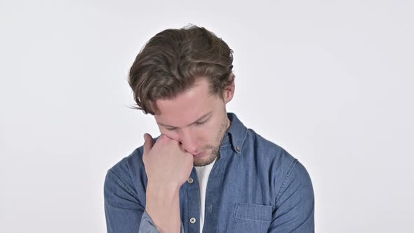
[[[207,166],[208,164],[213,163],[213,161],[220,155],[220,146],[229,125],[230,120],[228,119],[227,114],[225,114],[225,117],[220,124],[218,135],[215,137],[215,145],[207,145],[206,147],[203,147],[204,150],[211,149],[211,153],[203,158],[194,157],[194,166]]]

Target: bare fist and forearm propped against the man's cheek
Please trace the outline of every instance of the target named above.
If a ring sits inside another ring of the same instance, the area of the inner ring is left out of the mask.
[[[144,161],[147,173],[145,210],[159,232],[180,232],[180,187],[193,168],[193,156],[180,142],[161,135],[154,145],[151,135],[144,135]]]

